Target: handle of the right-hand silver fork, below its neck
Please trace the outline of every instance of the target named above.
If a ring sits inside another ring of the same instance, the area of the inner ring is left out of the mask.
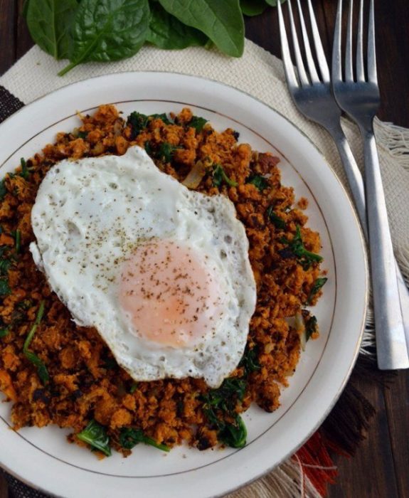
[[[409,368],[398,280],[373,127],[362,129],[376,351],[381,370]],[[373,241],[373,242],[372,242]]]

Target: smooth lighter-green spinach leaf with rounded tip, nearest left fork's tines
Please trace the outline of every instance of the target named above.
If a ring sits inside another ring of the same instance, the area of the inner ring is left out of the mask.
[[[159,0],[169,14],[203,31],[227,55],[244,50],[244,21],[239,0]]]

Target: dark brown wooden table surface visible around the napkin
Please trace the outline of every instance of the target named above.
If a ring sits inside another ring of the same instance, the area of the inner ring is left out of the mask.
[[[313,0],[324,49],[329,57],[334,31],[335,0]],[[33,45],[21,18],[23,0],[0,0],[0,75]],[[409,2],[376,1],[376,50],[381,109],[378,117],[409,127]],[[248,38],[280,55],[277,12],[246,21]],[[339,479],[330,497],[409,497],[409,373],[400,371],[389,388],[362,381],[376,407],[368,437],[353,459],[336,458]],[[6,498],[0,477],[0,498]],[[11,497],[9,497],[11,498]]]

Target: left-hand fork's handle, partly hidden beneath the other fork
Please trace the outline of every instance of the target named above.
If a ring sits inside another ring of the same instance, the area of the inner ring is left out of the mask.
[[[344,130],[341,128],[341,124],[334,125],[333,127],[329,128],[328,131],[331,133],[331,136],[334,139],[339,155],[341,157],[342,164],[344,165],[344,171],[346,172],[346,177],[349,181],[351,193],[354,197],[356,211],[358,213],[359,220],[361,221],[362,231],[366,237],[366,240],[368,240],[365,187],[363,185],[361,171],[359,171],[358,165],[356,164],[354,155],[351,151],[351,147],[349,147],[349,143],[344,134]],[[377,154],[376,159],[378,159]],[[406,287],[402,272],[400,271],[400,267],[395,258],[394,264],[396,277],[398,279],[400,312],[402,314],[403,327],[405,329],[406,347],[409,348],[409,291],[408,287]]]

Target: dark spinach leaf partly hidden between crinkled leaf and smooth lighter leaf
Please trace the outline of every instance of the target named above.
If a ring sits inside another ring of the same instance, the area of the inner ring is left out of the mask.
[[[203,46],[208,38],[198,29],[181,23],[178,18],[166,12],[161,4],[153,2],[147,41],[159,48],[171,50]]]

